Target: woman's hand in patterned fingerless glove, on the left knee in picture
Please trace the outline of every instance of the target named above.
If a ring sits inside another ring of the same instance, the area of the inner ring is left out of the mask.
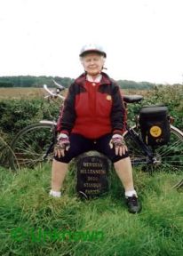
[[[65,156],[65,150],[68,151],[68,148],[70,148],[70,141],[68,139],[68,135],[65,133],[60,133],[57,138],[57,143],[54,147],[55,156]]]

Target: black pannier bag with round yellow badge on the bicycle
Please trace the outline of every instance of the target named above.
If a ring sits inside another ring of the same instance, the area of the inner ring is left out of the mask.
[[[167,144],[171,137],[168,108],[147,106],[139,110],[139,127],[142,140],[150,146]]]

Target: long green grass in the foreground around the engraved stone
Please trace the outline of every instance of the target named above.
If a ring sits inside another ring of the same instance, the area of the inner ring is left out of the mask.
[[[68,172],[61,198],[48,196],[48,166],[0,171],[0,255],[182,255],[183,194],[181,188],[172,188],[181,180],[180,173],[150,176],[135,170],[143,210],[133,215],[127,212],[114,172],[107,195],[82,201],[76,195],[75,166]],[[103,236],[85,240],[53,236],[95,231]]]

